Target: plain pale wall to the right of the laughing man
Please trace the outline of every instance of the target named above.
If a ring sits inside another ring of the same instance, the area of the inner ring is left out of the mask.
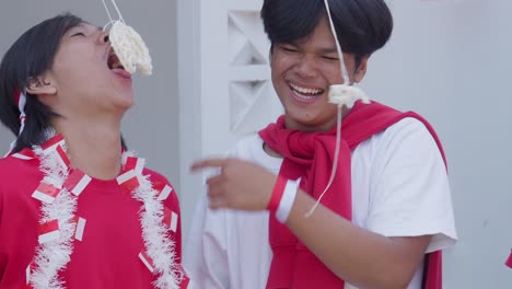
[[[511,288],[512,2],[395,0],[392,10],[392,41],[364,86],[426,116],[443,141],[459,236],[445,287]]]

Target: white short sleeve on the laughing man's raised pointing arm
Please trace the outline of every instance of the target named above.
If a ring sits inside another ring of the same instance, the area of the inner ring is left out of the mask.
[[[422,123],[388,128],[375,153],[368,229],[387,236],[432,234],[427,253],[456,240],[446,167]]]

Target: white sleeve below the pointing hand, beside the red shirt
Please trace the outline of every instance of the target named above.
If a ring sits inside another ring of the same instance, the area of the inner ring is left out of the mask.
[[[225,210],[210,210],[202,194],[184,251],[184,267],[195,288],[230,288],[224,223]]]

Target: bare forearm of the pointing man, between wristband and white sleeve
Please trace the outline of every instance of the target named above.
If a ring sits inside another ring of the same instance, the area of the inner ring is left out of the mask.
[[[362,288],[406,288],[430,236],[386,238],[352,224],[300,190],[287,221],[291,231],[338,277]]]

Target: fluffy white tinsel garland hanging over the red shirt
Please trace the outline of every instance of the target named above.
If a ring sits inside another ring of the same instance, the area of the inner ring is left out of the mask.
[[[66,144],[62,144],[66,151]],[[55,150],[44,151],[40,147],[34,148],[34,152],[40,160],[39,170],[44,173],[44,181],[56,187],[62,187],[69,175],[69,169],[60,164]],[[125,152],[123,162],[127,157],[133,157],[132,152]],[[164,205],[159,201],[156,192],[149,175],[138,173],[140,186],[131,192],[132,197],[143,204],[140,210],[142,239],[147,254],[152,258],[154,271],[158,275],[153,286],[162,289],[178,289],[184,278],[182,270],[176,265],[174,254],[174,241],[168,235],[168,228],[164,224]],[[58,278],[60,270],[70,262],[73,251],[73,236],[75,223],[78,197],[63,188],[51,204],[43,203],[40,207],[39,223],[58,220],[59,238],[39,244],[35,252],[33,264],[27,280],[35,289],[65,289],[63,280]],[[141,266],[143,266],[141,264]]]

